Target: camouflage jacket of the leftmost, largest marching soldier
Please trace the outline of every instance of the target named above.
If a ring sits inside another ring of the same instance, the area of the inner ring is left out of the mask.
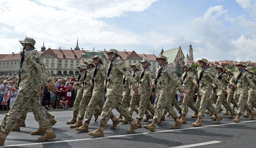
[[[45,84],[52,80],[51,74],[46,69],[44,62],[34,49],[24,53],[24,61],[22,65],[21,81],[19,83],[19,91],[21,92],[39,92],[41,88],[42,76],[45,78]]]

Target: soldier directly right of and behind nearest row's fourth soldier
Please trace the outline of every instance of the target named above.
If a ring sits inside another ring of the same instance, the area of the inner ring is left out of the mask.
[[[217,70],[217,74],[216,74],[216,77],[219,78],[220,75],[223,73],[223,67],[221,65],[218,65],[217,67],[215,67],[215,69]],[[227,75],[225,73],[222,74],[222,77],[221,79],[219,79],[221,81],[221,84],[222,84],[222,87],[225,88],[227,84],[230,85],[229,83],[229,78],[227,77]],[[223,106],[226,108],[227,111],[230,112],[230,116],[229,118],[233,118],[234,115],[236,115],[234,113],[234,111],[231,109],[230,107],[230,103],[227,102],[227,99],[225,98],[225,94],[219,90],[219,86],[217,88],[216,84],[213,82],[213,87],[216,88],[217,90],[217,95],[218,95],[218,99],[217,99],[217,102],[216,102],[216,108],[215,110],[220,113],[220,110],[221,110],[221,105],[223,104]],[[216,119],[216,116],[213,115],[210,117],[211,119]]]

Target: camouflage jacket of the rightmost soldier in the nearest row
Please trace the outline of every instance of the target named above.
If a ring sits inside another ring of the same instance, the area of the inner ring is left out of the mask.
[[[240,72],[238,71],[233,75],[232,79],[230,80],[230,84],[233,84],[236,81],[239,73]],[[238,95],[239,94],[248,94],[248,85],[251,85],[254,92],[256,92],[256,88],[252,82],[252,78],[247,76],[247,74],[245,72],[243,72],[243,74],[241,75],[239,80],[241,81],[241,84],[237,83],[237,90],[236,90]]]

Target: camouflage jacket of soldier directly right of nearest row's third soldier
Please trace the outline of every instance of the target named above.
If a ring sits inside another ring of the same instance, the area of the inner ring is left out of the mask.
[[[185,75],[185,73],[182,74],[182,76],[180,78],[180,82],[183,80],[184,75]],[[195,78],[195,74],[193,72],[189,71],[184,80],[185,84],[183,84],[183,88],[188,92],[188,96],[194,95],[194,82],[193,82],[194,78]]]

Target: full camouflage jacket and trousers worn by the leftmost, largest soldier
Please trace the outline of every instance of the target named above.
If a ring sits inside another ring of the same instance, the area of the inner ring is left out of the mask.
[[[44,107],[41,105],[39,91],[41,88],[41,76],[44,75],[46,81],[52,80],[49,71],[37,51],[34,49],[24,53],[22,65],[21,81],[19,91],[11,110],[5,115],[2,123],[2,131],[10,133],[20,114],[24,115],[25,108],[29,106],[35,116],[35,120],[44,128],[51,127]]]

